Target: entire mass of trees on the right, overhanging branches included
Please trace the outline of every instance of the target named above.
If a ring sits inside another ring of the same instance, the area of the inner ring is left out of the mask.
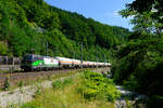
[[[120,13],[133,16],[134,33],[117,52],[114,80],[147,95],[163,96],[163,18],[162,0],[135,0]]]

